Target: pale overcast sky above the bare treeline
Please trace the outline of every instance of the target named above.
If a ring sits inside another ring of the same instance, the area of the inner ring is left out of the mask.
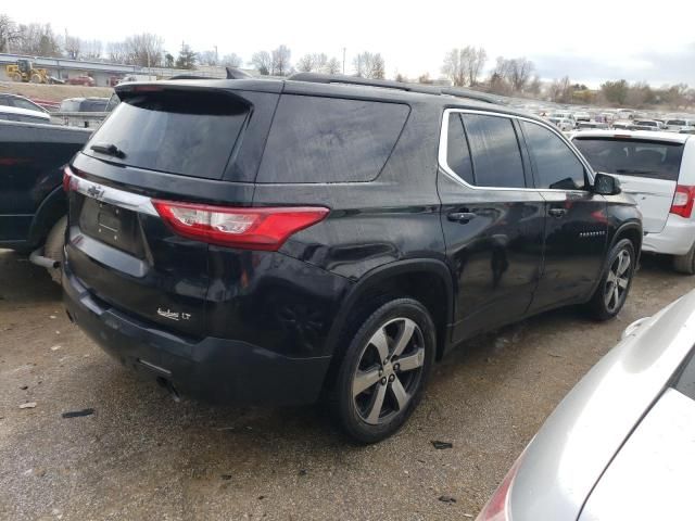
[[[346,48],[348,73],[352,56],[368,50],[381,52],[389,76],[437,77],[447,50],[473,45],[486,49],[488,67],[498,55],[527,56],[543,79],[695,85],[693,0],[159,3],[118,0],[97,9],[93,1],[12,0],[0,12],[103,41],[155,33],[174,55],[184,40],[197,51],[217,46],[220,56],[236,52],[244,61],[280,43],[293,62],[306,52],[342,60]]]

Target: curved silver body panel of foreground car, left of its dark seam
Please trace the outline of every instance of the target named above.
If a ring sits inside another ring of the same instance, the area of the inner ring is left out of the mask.
[[[602,473],[694,343],[691,292],[594,366],[527,447],[511,486],[511,520],[577,520]]]

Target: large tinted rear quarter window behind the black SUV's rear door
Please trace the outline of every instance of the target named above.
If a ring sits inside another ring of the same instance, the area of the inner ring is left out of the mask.
[[[393,150],[409,107],[397,103],[285,94],[258,182],[375,179]]]

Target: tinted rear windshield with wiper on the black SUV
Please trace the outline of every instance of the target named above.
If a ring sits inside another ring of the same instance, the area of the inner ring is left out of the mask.
[[[99,127],[85,153],[139,168],[220,179],[249,114],[225,93],[155,91],[124,100]],[[115,145],[106,155],[93,145]]]

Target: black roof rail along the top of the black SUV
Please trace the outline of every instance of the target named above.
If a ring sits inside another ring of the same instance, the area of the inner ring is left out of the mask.
[[[367,79],[357,76],[344,76],[340,74],[318,74],[318,73],[295,73],[288,76],[287,79],[292,81],[308,81],[313,84],[337,84],[337,85],[358,85],[365,87],[380,87],[383,89],[403,90],[406,92],[419,92],[424,94],[434,96],[453,96],[456,98],[467,98],[470,100],[482,101],[485,103],[503,103],[503,101],[494,96],[484,92],[478,92],[470,89],[460,89],[454,87],[439,87],[435,85],[425,84],[405,84],[388,79]]]

